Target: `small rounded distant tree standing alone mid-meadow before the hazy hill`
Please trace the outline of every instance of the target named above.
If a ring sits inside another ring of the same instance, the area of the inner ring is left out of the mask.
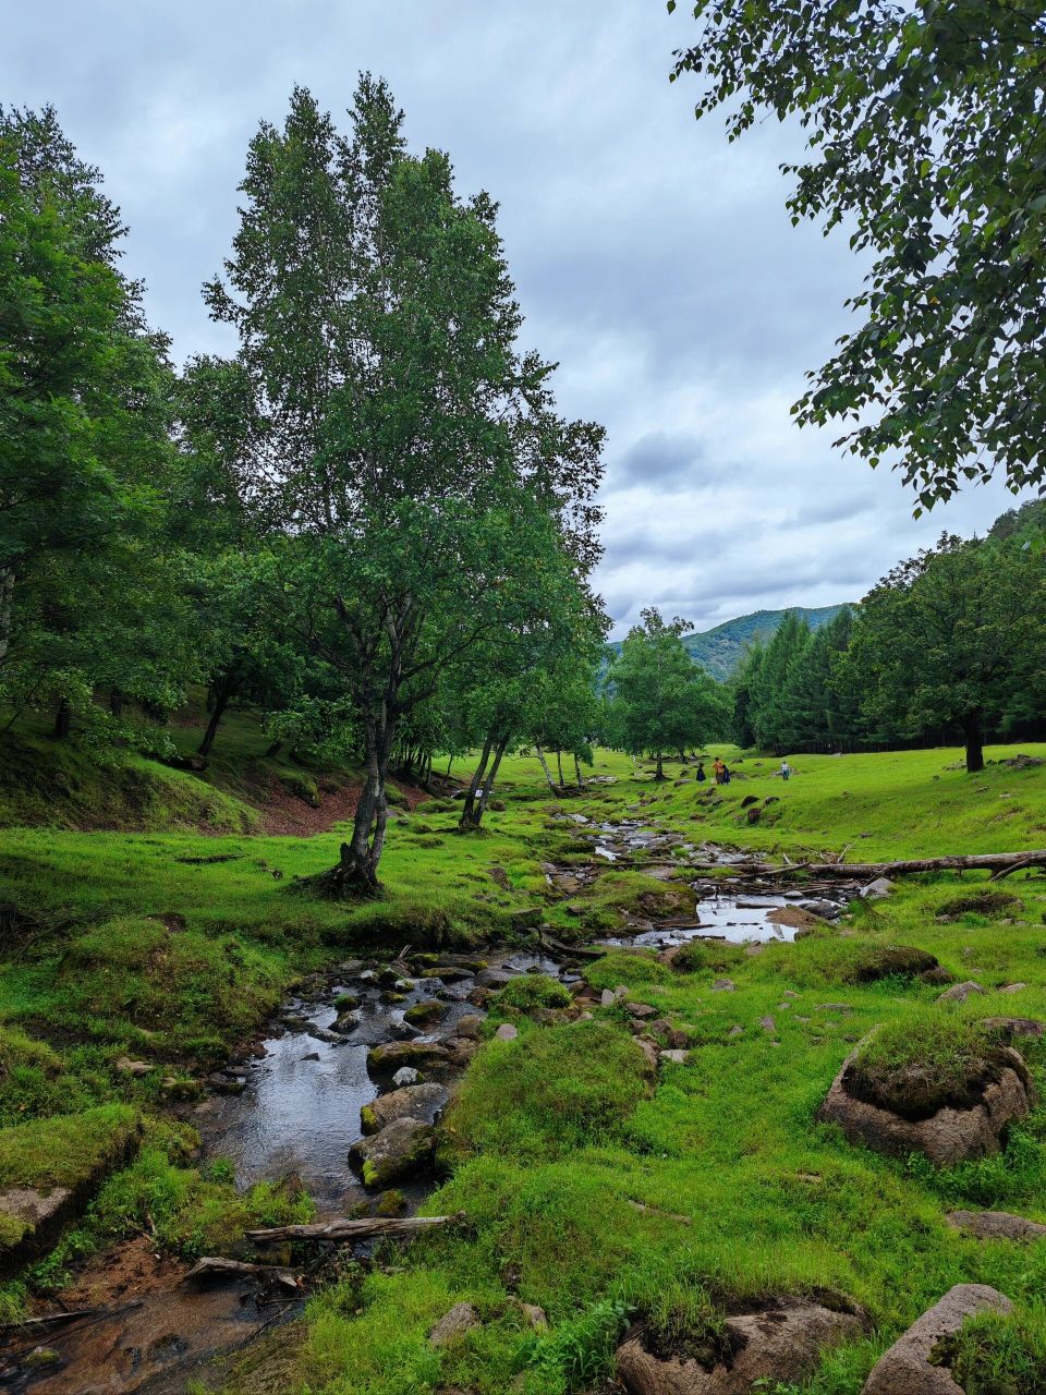
[[[657,778],[664,780],[664,753],[700,745],[720,730],[727,699],[683,646],[692,625],[678,615],[665,622],[654,608],[642,611],[642,618],[607,674],[608,735],[630,755],[653,755]]]

